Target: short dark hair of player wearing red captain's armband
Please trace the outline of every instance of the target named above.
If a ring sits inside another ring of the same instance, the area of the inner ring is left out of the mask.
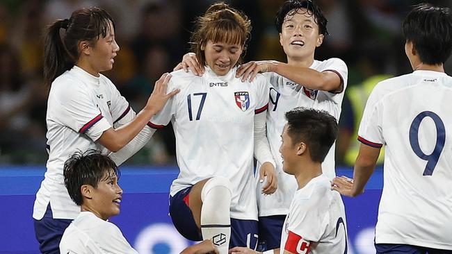
[[[323,162],[337,137],[337,121],[328,112],[294,108],[286,112],[287,134],[292,144],[304,142],[314,162]]]

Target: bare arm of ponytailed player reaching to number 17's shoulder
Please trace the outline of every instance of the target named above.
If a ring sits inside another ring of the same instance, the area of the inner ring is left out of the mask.
[[[117,152],[134,139],[143,130],[151,117],[163,108],[166,101],[179,92],[179,90],[174,90],[166,94],[170,78],[170,74],[163,74],[159,81],[156,81],[154,91],[149,97],[145,108],[138,112],[136,117],[128,124],[124,124],[118,129],[109,128],[104,131],[99,138],[99,143],[105,146],[106,149]]]

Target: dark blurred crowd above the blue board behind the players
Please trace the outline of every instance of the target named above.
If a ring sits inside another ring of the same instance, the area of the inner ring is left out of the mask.
[[[285,54],[274,26],[284,0],[225,0],[252,22],[245,61],[279,60]],[[195,17],[213,0],[1,0],[0,1],[0,164],[45,164],[47,88],[42,83],[42,34],[73,10],[98,6],[115,19],[120,46],[105,73],[132,108],[143,108],[154,82],[172,71],[190,48]],[[337,165],[353,164],[356,128],[368,91],[378,81],[412,71],[405,57],[401,22],[414,0],[317,0],[328,32],[316,59],[341,58],[348,65]],[[452,0],[428,1],[452,7]],[[452,74],[452,60],[446,62]],[[370,92],[370,91],[369,91]],[[428,96],[428,91],[426,91]],[[363,100],[364,99],[364,100]],[[362,107],[361,107],[362,106]],[[157,132],[127,164],[175,164],[170,126]]]

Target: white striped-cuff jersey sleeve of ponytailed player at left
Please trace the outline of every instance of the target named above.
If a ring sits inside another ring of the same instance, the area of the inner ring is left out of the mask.
[[[111,128],[83,87],[67,85],[56,92],[55,98],[56,103],[51,110],[54,110],[61,124],[72,130],[86,134],[96,141],[105,130]]]

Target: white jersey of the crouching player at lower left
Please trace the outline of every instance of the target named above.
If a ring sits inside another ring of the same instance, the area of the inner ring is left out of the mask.
[[[80,212],[66,228],[61,237],[60,253],[138,254],[115,224],[92,212]]]

